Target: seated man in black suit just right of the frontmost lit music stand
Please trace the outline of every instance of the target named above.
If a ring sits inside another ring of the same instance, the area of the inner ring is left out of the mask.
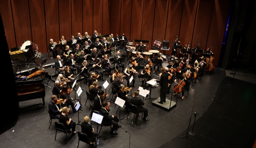
[[[118,125],[119,119],[117,116],[109,116],[109,112],[108,110],[106,110],[108,103],[106,101],[104,101],[102,103],[102,107],[100,108],[100,114],[103,115],[103,120],[102,120],[102,124],[106,125],[106,126],[111,126],[113,125],[110,134],[115,134],[118,135],[118,133],[116,133],[114,130],[117,130],[118,128],[121,128],[121,125]]]

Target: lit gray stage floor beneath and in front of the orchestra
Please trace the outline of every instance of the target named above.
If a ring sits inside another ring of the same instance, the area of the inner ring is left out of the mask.
[[[192,85],[189,90],[189,95],[185,92],[185,99],[181,100],[178,98],[177,106],[174,107],[171,111],[166,111],[162,108],[159,108],[151,103],[150,100],[144,100],[145,107],[149,110],[150,121],[141,121],[141,118],[138,118],[137,125],[135,125],[135,117],[130,114],[128,121],[121,120],[122,128],[117,130],[118,135],[112,136],[109,134],[109,127],[103,127],[101,134],[103,137],[100,137],[101,148],[129,148],[129,134],[125,133],[128,131],[131,133],[131,148],[157,148],[161,145],[169,142],[171,139],[174,139],[179,133],[184,131],[187,128],[188,121],[191,115],[194,95],[196,93],[196,102],[194,104],[194,111],[200,114],[200,116],[207,110],[209,105],[214,99],[215,93],[217,91],[218,85],[221,80],[224,78],[225,71],[219,68],[215,68],[215,73],[205,74],[202,79],[198,78],[198,82],[194,84],[196,89],[192,89]],[[158,77],[155,77],[158,79]],[[109,79],[109,78],[108,78]],[[100,82],[99,84],[102,84]],[[49,85],[53,86],[53,81],[49,81]],[[80,83],[78,83],[80,84]],[[135,90],[138,89],[138,82],[135,84]],[[172,84],[174,86],[174,84]],[[85,85],[82,81],[82,87],[85,90],[88,90],[88,86]],[[148,87],[146,89],[149,90]],[[108,90],[108,89],[107,89]],[[152,89],[152,98],[159,97],[160,88]],[[56,141],[55,137],[55,125],[53,123],[48,129],[49,115],[47,113],[47,104],[50,101],[52,96],[51,89],[46,87],[46,96],[45,96],[45,106],[36,106],[27,109],[21,109],[20,115],[18,118],[18,123],[15,127],[9,129],[2,135],[0,135],[0,147],[1,148],[76,148],[78,143],[78,136],[68,135],[68,142],[65,145],[65,134],[58,132]],[[111,92],[111,91],[110,91]],[[109,94],[110,94],[109,92]],[[74,92],[72,92],[74,97]],[[168,99],[171,95],[168,94]],[[179,96],[181,97],[181,95]],[[85,111],[79,112],[79,119],[86,115],[90,114],[89,103],[87,102],[86,107],[84,107],[86,99],[85,91],[82,92],[81,102]],[[41,103],[41,99],[29,100],[26,102],[20,102],[20,107],[26,107],[31,104]],[[116,109],[114,109],[114,100],[111,102],[110,109],[112,113],[115,114]],[[121,118],[127,117],[127,111],[124,108],[121,109]],[[118,114],[117,114],[118,115]],[[197,119],[200,119],[198,116]],[[78,121],[78,114],[71,113],[71,119],[74,122]],[[93,128],[96,130],[96,124],[93,123]],[[81,127],[77,125],[77,131],[81,131]],[[85,143],[80,142],[79,147],[87,146]]]

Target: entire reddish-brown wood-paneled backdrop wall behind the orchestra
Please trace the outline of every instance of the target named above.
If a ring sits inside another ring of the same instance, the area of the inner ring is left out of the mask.
[[[212,46],[218,65],[229,5],[230,0],[2,0],[0,13],[9,49],[30,40],[44,53],[50,38],[69,40],[97,30],[149,40],[150,50],[157,39],[169,40],[171,47],[178,35],[182,47],[197,41],[201,49]]]

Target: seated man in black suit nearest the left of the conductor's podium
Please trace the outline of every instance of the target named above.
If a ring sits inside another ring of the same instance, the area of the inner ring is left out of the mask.
[[[139,92],[138,91],[135,91],[134,92],[134,97],[132,97],[131,99],[131,104],[134,104],[137,106],[137,110],[141,113],[143,112],[144,113],[144,118],[143,120],[149,120],[147,118],[148,116],[148,113],[147,113],[147,108],[143,107],[144,105],[144,102],[142,102],[142,100],[140,98],[138,98],[138,94]]]

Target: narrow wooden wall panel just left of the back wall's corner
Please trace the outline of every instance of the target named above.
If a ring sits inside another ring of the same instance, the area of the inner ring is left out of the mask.
[[[110,35],[110,16],[111,16],[111,0],[103,0],[103,26],[102,33],[103,35]]]

